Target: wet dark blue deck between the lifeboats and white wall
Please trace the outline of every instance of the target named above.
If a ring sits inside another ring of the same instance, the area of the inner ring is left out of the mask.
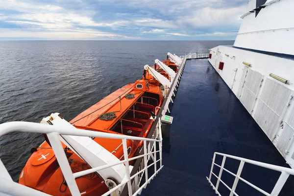
[[[143,196],[215,196],[205,179],[215,151],[288,167],[207,59],[187,61],[171,116],[170,138],[164,139],[163,146],[164,168]],[[221,165],[221,157],[216,162]],[[226,161],[225,168],[231,172],[236,173],[238,167],[238,161]],[[245,164],[241,176],[270,193],[279,174]],[[222,179],[232,186],[233,176],[223,172]],[[294,195],[293,182],[290,176],[280,195]],[[221,183],[220,192],[229,195]],[[242,181],[236,192],[263,195]]]

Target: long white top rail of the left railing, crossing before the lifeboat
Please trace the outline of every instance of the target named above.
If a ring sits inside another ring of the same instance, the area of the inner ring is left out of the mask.
[[[85,137],[98,137],[110,139],[127,139],[127,140],[146,140],[159,142],[159,140],[127,136],[121,134],[103,133],[84,129],[70,128],[67,126],[52,126],[49,124],[31,123],[31,122],[8,122],[0,124],[0,137],[14,131],[32,132],[32,133],[52,133],[57,132],[61,135],[75,135]]]

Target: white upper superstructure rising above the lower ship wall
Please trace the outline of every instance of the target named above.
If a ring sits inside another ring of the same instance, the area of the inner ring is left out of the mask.
[[[256,15],[256,0],[248,1],[247,13],[234,46],[294,55],[294,1],[267,0]]]

